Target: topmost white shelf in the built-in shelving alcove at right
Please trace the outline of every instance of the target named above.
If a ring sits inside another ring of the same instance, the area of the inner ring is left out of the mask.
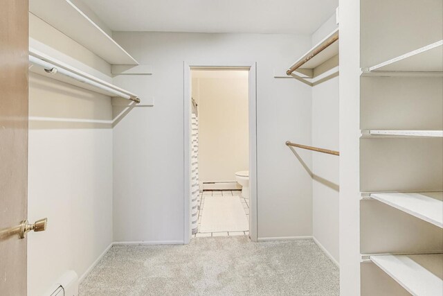
[[[441,73],[443,71],[443,40],[410,51],[397,58],[369,67],[366,73],[417,72]]]

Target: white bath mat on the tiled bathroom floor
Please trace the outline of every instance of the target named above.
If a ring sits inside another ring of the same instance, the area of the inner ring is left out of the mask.
[[[199,232],[243,232],[249,225],[238,196],[205,198]]]

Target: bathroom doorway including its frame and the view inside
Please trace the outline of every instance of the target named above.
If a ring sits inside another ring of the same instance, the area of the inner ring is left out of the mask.
[[[185,242],[205,236],[255,241],[255,64],[186,66],[185,94]]]

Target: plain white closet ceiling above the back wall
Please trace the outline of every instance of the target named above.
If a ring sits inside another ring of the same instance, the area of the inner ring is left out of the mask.
[[[311,34],[338,0],[83,0],[112,31]]]

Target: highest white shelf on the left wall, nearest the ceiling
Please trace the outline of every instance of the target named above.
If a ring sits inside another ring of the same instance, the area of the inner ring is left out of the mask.
[[[70,0],[31,0],[29,11],[109,64],[138,64]]]

